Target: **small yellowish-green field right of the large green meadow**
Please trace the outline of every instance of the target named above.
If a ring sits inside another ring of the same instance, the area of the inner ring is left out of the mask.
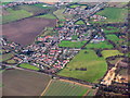
[[[123,56],[123,53],[119,52],[118,50],[103,50],[102,54],[104,58],[113,57],[113,56]]]

